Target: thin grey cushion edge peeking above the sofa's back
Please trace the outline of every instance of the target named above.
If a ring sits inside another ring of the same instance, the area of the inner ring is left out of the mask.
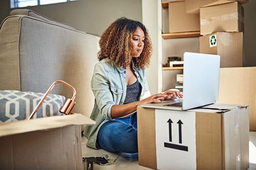
[[[38,18],[38,19],[50,22],[50,23],[54,23],[54,24],[62,26],[62,27],[66,27],[66,28],[70,28],[70,29],[75,29],[73,26],[70,26],[67,23],[61,23],[61,22],[58,22],[56,20],[47,18],[46,16],[40,15],[40,14],[38,14],[38,13],[36,13],[34,11],[31,11],[29,9],[15,9],[15,10],[12,10],[10,12],[10,16],[12,16],[12,15],[27,15],[27,16],[31,16],[31,17],[34,17],[34,18]]]

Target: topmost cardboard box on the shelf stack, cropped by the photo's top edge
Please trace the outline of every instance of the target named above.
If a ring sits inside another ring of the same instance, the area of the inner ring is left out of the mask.
[[[230,2],[239,2],[240,4],[249,3],[249,0],[186,0],[186,12],[187,13],[199,13],[201,7],[208,7],[220,4],[226,4]]]

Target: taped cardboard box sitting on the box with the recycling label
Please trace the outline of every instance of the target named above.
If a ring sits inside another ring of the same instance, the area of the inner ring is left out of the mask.
[[[244,9],[238,2],[200,8],[200,34],[243,32]]]

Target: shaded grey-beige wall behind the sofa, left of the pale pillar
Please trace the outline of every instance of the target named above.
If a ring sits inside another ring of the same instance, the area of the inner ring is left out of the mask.
[[[142,21],[141,0],[78,0],[67,3],[26,7],[77,30],[101,35],[115,19],[125,16]],[[9,15],[9,0],[0,2],[1,21]]]

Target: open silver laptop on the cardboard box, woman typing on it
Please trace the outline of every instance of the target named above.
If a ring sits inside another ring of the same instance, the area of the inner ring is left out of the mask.
[[[183,98],[142,104],[141,107],[187,110],[217,102],[220,56],[185,52],[183,60]]]

